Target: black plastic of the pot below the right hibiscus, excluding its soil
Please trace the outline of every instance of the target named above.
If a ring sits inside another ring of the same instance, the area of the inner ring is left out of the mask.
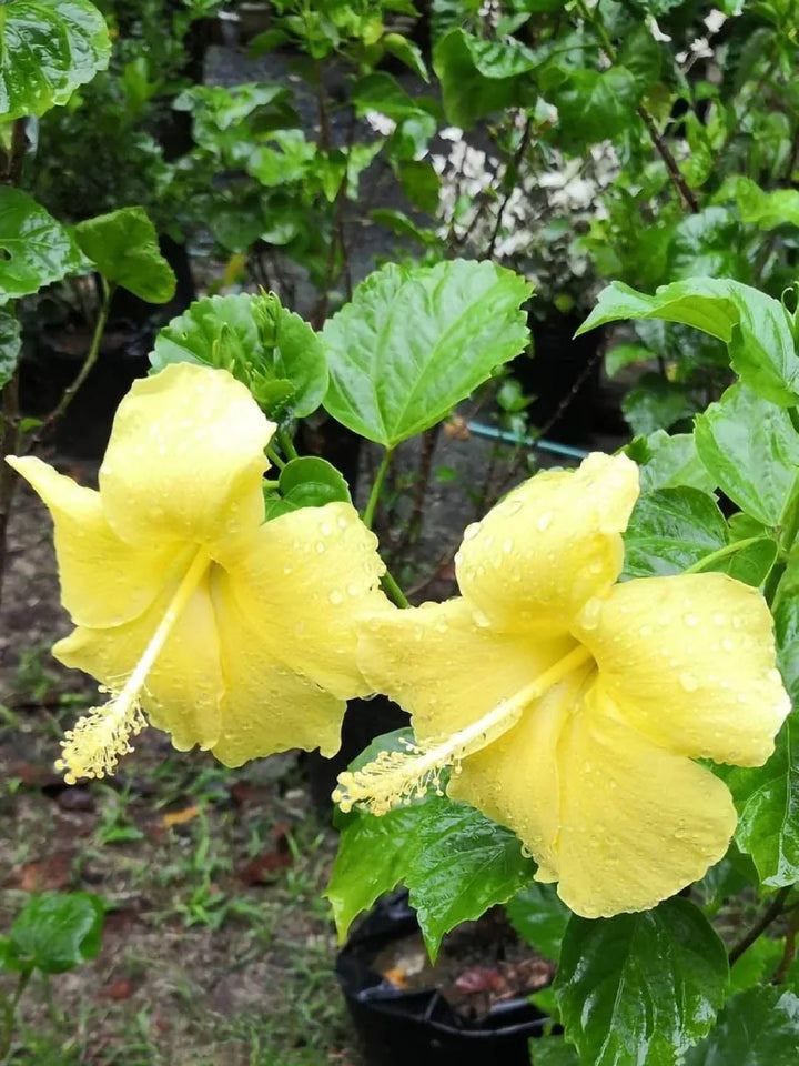
[[[336,974],[366,1066],[529,1066],[528,1042],[549,1019],[526,997],[473,1022],[436,988],[402,992],[371,968],[383,948],[416,928],[405,894],[388,896],[338,954]]]

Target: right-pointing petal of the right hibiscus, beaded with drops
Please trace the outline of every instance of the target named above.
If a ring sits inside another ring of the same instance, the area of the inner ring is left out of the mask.
[[[771,615],[726,574],[643,577],[588,604],[575,628],[627,722],[684,755],[760,766],[790,711]]]

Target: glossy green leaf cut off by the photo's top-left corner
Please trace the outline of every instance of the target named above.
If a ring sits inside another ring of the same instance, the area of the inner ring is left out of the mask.
[[[108,28],[89,0],[0,4],[0,117],[41,115],[104,70]]]

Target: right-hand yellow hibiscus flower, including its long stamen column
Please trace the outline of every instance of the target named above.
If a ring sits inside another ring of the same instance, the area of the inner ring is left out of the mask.
[[[384,611],[361,667],[413,714],[416,745],[340,777],[375,814],[439,787],[509,826],[586,917],[701,877],[736,825],[694,760],[758,766],[790,703],[771,616],[717,573],[616,583],[638,495],[625,456],[545,472],[469,526],[462,597]]]

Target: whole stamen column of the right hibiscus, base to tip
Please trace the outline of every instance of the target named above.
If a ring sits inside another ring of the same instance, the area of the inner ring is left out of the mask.
[[[529,685],[463,730],[423,744],[407,743],[403,752],[381,752],[361,770],[340,774],[333,800],[345,814],[357,803],[371,814],[381,815],[423,796],[431,786],[442,795],[441,775],[445,768],[453,766],[454,772],[459,773],[463,758],[507,733],[530,703],[540,700],[549,688],[591,658],[588,648],[579,644]]]

